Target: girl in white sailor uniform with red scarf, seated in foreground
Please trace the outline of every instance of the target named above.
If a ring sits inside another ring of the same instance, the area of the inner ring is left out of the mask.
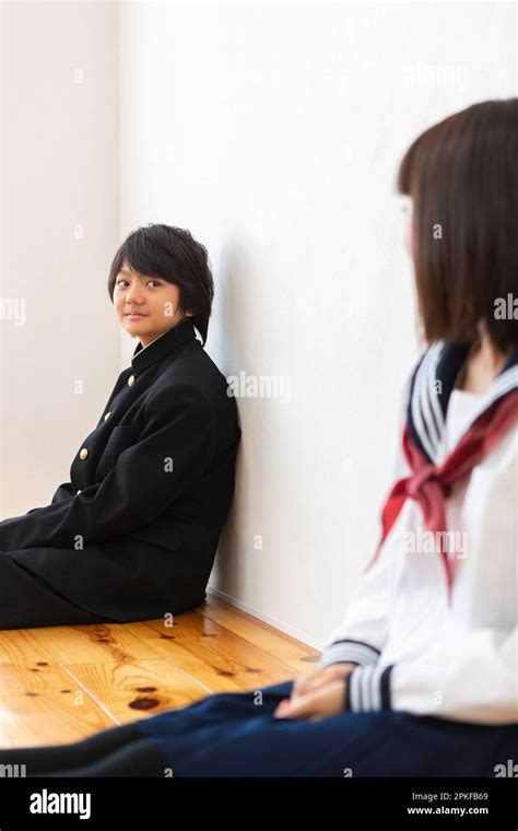
[[[319,668],[0,761],[32,776],[493,776],[518,758],[518,350],[495,316],[516,291],[517,120],[516,98],[471,106],[402,160],[429,347],[380,547]]]

